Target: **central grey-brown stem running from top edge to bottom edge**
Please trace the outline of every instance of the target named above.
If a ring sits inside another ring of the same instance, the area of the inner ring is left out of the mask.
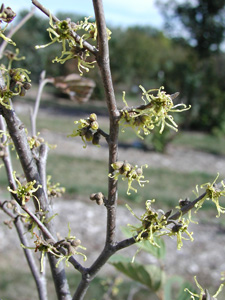
[[[98,45],[99,52],[96,53],[96,60],[101,72],[103,86],[105,90],[106,103],[110,118],[110,132],[107,137],[109,145],[109,173],[112,173],[111,164],[117,161],[118,157],[118,133],[119,133],[119,111],[117,109],[115,93],[113,89],[111,69],[109,64],[109,48],[108,35],[106,31],[105,16],[103,3],[101,0],[93,0],[95,10],[95,19],[98,30]],[[84,298],[91,280],[96,276],[102,266],[107,262],[113,254],[113,245],[115,243],[116,234],[116,207],[117,207],[117,180],[114,178],[108,179],[108,200],[107,200],[107,227],[105,247],[96,261],[88,269],[86,274],[83,274],[80,284],[73,296],[73,300],[81,300]]]

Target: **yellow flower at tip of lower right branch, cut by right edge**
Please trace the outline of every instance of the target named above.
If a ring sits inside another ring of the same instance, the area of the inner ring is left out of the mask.
[[[201,189],[206,189],[206,195],[195,204],[196,211],[198,211],[199,208],[202,207],[205,200],[212,200],[212,202],[215,203],[218,212],[218,215],[216,216],[217,218],[220,216],[221,213],[225,213],[225,207],[222,207],[219,202],[220,197],[225,196],[225,184],[223,181],[221,181],[220,185],[216,184],[218,177],[219,173],[217,174],[215,180],[212,183],[207,182],[200,186]],[[198,185],[196,186],[196,192],[194,191],[194,193],[197,197],[199,196]]]

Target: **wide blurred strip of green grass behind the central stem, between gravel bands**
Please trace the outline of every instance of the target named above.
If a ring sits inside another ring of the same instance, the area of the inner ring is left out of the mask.
[[[58,164],[60,162],[60,164]],[[56,168],[57,165],[57,168]],[[93,192],[102,191],[107,195],[107,163],[66,155],[51,154],[47,165],[48,174],[52,174],[52,181],[60,182],[66,188],[70,197],[85,197]],[[144,204],[148,199],[157,199],[159,205],[175,206],[180,198],[194,197],[192,190],[196,184],[212,182],[214,176],[201,173],[180,173],[167,169],[144,169],[145,179],[149,180],[145,186],[133,186],[138,193],[131,192],[128,196],[127,181],[119,179],[119,203],[127,201]]]

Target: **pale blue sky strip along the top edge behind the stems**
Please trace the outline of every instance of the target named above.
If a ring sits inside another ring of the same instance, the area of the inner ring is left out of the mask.
[[[73,12],[84,16],[94,16],[91,0],[39,0],[53,14]],[[62,5],[63,3],[63,5]],[[138,4],[138,5],[137,5]],[[16,13],[21,9],[30,9],[31,0],[7,0]],[[113,26],[150,25],[162,28],[163,20],[154,0],[103,0],[106,22]]]

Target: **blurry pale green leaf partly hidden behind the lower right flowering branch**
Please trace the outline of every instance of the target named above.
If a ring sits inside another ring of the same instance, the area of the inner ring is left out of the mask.
[[[128,226],[121,227],[121,231],[126,237],[132,236],[132,230]],[[166,255],[166,246],[164,240],[160,237],[156,237],[155,241],[160,246],[160,248],[152,245],[149,241],[141,241],[139,243],[136,243],[136,246],[141,248],[141,250],[152,254],[157,259],[164,259]]]

